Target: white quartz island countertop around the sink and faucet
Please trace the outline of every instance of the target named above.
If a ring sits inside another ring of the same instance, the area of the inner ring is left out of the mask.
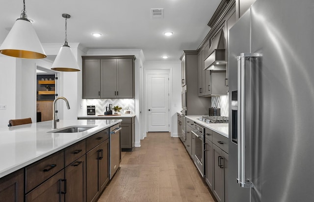
[[[0,178],[121,121],[107,119],[57,122],[57,129],[95,126],[79,133],[47,133],[52,131],[52,121],[0,128]]]

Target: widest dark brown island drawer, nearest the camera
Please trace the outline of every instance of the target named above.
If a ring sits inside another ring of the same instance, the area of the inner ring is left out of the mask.
[[[64,150],[45,157],[25,169],[26,193],[64,168]]]

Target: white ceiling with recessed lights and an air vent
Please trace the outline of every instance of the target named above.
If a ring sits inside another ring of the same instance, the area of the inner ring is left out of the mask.
[[[146,61],[179,60],[183,50],[195,50],[210,30],[207,25],[220,0],[26,0],[26,14],[41,43],[63,43],[65,19],[68,42],[89,49],[143,49]],[[151,8],[163,8],[163,19],[152,19]],[[0,44],[23,0],[0,6]],[[163,35],[172,31],[170,37]],[[95,38],[92,32],[103,35]]]

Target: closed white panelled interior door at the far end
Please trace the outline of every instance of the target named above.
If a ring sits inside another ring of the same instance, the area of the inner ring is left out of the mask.
[[[169,132],[169,74],[147,75],[148,132]]]

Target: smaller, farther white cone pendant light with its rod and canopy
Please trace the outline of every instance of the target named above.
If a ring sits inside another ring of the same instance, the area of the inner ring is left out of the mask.
[[[62,14],[65,18],[65,40],[64,45],[61,46],[53,64],[52,68],[56,71],[80,71],[78,67],[78,62],[72,53],[71,47],[68,45],[67,40],[67,19],[71,16],[69,14]]]

